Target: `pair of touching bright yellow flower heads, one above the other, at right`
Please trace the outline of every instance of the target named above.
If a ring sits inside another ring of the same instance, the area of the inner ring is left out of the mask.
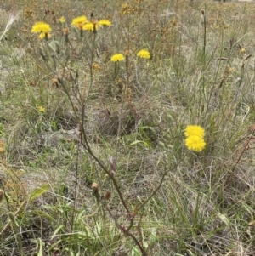
[[[206,147],[205,130],[199,125],[188,125],[185,129],[185,145],[190,151],[200,152]]]

